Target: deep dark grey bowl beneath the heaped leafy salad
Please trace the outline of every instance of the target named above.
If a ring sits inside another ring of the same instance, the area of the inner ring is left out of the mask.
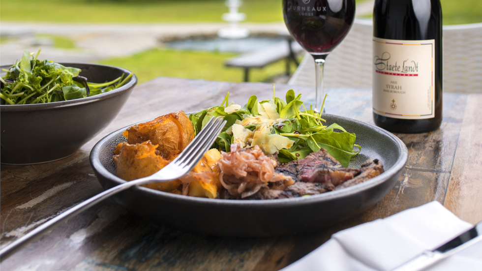
[[[93,83],[131,73],[108,65],[60,64],[82,69],[80,75]],[[45,104],[0,105],[1,163],[41,163],[75,153],[117,116],[136,84],[137,77],[132,75],[121,88],[91,97]]]

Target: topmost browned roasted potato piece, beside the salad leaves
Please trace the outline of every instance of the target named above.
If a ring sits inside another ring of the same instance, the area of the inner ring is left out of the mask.
[[[178,111],[133,125],[124,132],[124,136],[129,144],[141,144],[150,140],[157,145],[159,155],[171,160],[192,141],[194,127],[186,114]]]

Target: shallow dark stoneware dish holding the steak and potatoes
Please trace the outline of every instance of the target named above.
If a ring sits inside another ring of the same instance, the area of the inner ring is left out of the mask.
[[[366,210],[392,188],[407,163],[408,151],[396,136],[377,126],[324,114],[328,124],[336,122],[357,134],[361,145],[360,167],[378,158],[385,173],[361,184],[309,197],[275,200],[221,200],[176,195],[135,187],[114,200],[141,217],[176,228],[217,236],[271,236],[315,232]],[[122,182],[112,161],[118,143],[126,141],[125,128],[100,140],[90,152],[90,163],[104,189]]]

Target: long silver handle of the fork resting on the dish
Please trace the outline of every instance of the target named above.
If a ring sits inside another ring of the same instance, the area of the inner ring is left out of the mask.
[[[137,180],[136,180],[137,181]],[[26,235],[20,237],[19,239],[9,243],[6,245],[4,248],[0,249],[0,261],[3,261],[6,259],[8,256],[10,256],[12,253],[17,251],[18,249],[22,248],[25,246],[27,243],[30,241],[37,240],[40,238],[42,235],[46,234],[49,230],[52,230],[54,227],[58,226],[61,222],[69,219],[72,216],[75,216],[76,214],[85,211],[92,207],[93,205],[103,201],[104,199],[117,194],[127,188],[130,188],[131,186],[134,186],[138,184],[139,182],[136,181],[128,181],[119,185],[116,185],[108,190],[105,190],[104,192],[97,194],[90,199],[83,201],[76,206],[70,208],[67,211],[62,212],[61,214],[57,215],[56,217],[50,219],[49,221],[43,223],[42,225],[38,226],[37,228],[33,229]]]

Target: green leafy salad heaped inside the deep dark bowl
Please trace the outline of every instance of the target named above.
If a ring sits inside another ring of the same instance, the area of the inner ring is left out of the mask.
[[[91,83],[79,76],[81,69],[65,67],[49,60],[37,60],[40,50],[33,56],[24,51],[6,75],[0,78],[0,104],[36,104],[59,102],[97,95],[123,86],[132,73],[105,83]]]

